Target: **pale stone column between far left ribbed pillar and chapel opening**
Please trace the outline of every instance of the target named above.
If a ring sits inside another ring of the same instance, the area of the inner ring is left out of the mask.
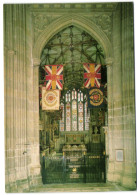
[[[31,191],[42,183],[39,151],[39,59],[32,58],[33,26],[31,11],[26,8],[26,68],[27,68],[27,168]]]

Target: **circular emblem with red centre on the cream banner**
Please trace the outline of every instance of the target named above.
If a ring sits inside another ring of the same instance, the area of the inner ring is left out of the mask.
[[[56,91],[46,91],[44,93],[44,103],[47,105],[47,106],[54,106],[56,105],[57,103],[57,93]]]

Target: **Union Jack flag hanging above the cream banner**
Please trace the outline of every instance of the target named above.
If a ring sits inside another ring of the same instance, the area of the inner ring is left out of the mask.
[[[63,89],[63,65],[45,65],[46,89]]]

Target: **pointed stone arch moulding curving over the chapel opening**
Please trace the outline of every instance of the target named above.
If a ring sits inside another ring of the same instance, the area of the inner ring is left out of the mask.
[[[106,34],[94,22],[83,16],[80,16],[79,14],[66,14],[49,24],[45,28],[45,30],[39,35],[38,39],[34,44],[33,60],[40,61],[42,49],[48,43],[48,41],[59,31],[70,25],[74,25],[85,30],[94,39],[96,39],[104,49],[106,64],[109,65],[112,63],[112,46]]]

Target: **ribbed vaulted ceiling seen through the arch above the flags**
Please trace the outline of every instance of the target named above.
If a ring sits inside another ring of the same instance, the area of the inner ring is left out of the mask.
[[[101,63],[102,81],[106,83],[104,53],[99,43],[87,32],[69,26],[46,44],[41,54],[40,83],[44,83],[44,65],[64,65],[64,91],[83,89],[83,63]]]

